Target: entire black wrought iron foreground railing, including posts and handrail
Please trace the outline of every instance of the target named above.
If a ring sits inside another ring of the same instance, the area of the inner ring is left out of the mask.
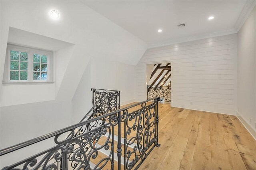
[[[147,102],[152,100],[154,102],[148,105]],[[44,136],[40,136],[38,138],[22,142],[18,145],[5,148],[4,150],[0,151],[0,156],[51,137],[54,137],[54,142],[57,144],[56,146],[39,152],[24,160],[16,162],[10,166],[6,166],[2,170],[12,170],[20,168],[22,166],[22,169],[42,168],[68,170],[70,166],[72,167],[72,169],[90,169],[90,166],[93,165],[91,164],[91,159],[95,159],[97,157],[96,153],[98,153],[101,149],[110,150],[111,154],[101,160],[97,160],[94,168],[102,169],[107,164],[107,162],[110,162],[110,169],[113,170],[115,127],[117,127],[118,129],[118,140],[116,145],[118,170],[121,170],[121,140],[124,140],[124,169],[138,169],[138,167],[142,164],[142,162],[146,159],[146,157],[150,154],[154,147],[160,146],[160,144],[158,143],[158,101],[159,97],[155,97],[110,113],[106,112],[106,114],[98,115],[93,119],[88,119],[86,121],[82,121],[81,123],[62,128]],[[128,111],[128,109],[136,107],[138,105],[141,105],[140,109],[136,111],[132,110],[131,112]],[[137,123],[134,123],[133,126],[128,125],[128,122],[133,121],[136,121]],[[95,122],[98,122],[99,124],[94,126]],[[92,125],[90,123],[92,123]],[[123,128],[121,128],[121,123],[123,123],[124,125]],[[83,127],[84,125],[86,125],[86,127],[89,126],[89,128],[83,129],[79,131],[78,134],[76,134],[75,130],[78,129],[78,127]],[[138,127],[144,128],[138,129]],[[123,139],[121,137],[121,130],[124,130]],[[138,130],[143,131],[141,133],[144,136],[144,140],[140,140],[141,137],[139,137],[138,135],[129,136],[131,132],[138,133]],[[63,140],[62,138],[60,138],[60,136],[66,132],[71,132],[72,135],[69,138]],[[107,139],[104,144],[96,146],[101,136],[105,136]],[[131,153],[137,151],[139,152],[139,154],[136,154],[136,158],[131,157]],[[52,158],[54,158],[55,162],[49,162],[49,160],[51,160]]]

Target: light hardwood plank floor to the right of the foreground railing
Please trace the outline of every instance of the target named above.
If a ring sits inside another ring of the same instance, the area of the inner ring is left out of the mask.
[[[159,105],[159,148],[140,170],[256,170],[256,141],[236,116]]]

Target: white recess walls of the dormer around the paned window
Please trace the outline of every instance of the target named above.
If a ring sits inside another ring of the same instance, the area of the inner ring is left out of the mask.
[[[9,28],[8,43],[54,51],[53,63],[50,63],[53,65],[53,70],[51,70],[53,73],[51,72],[50,74],[52,77],[50,78],[50,81],[54,81],[55,83],[43,85],[3,84],[1,86],[1,105],[10,106],[54,100],[60,84],[62,83],[65,70],[74,49],[74,44],[12,27]],[[7,58],[8,56],[6,55],[4,67],[8,67],[9,61]],[[3,82],[8,81],[9,77],[7,72],[8,68],[5,68]],[[20,97],[22,97],[22,100],[20,100]]]

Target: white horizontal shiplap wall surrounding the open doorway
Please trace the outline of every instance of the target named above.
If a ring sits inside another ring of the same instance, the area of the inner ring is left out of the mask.
[[[147,49],[136,67],[137,101],[146,99],[146,64],[168,61],[173,107],[235,114],[237,34]]]

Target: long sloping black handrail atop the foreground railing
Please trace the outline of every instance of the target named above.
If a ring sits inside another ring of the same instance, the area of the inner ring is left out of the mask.
[[[69,130],[72,130],[72,129],[74,129],[74,128],[80,127],[80,126],[82,126],[82,125],[86,125],[86,124],[88,124],[88,123],[91,123],[91,122],[93,122],[93,121],[102,119],[102,118],[104,118],[104,117],[108,117],[108,116],[110,116],[110,115],[114,115],[115,113],[122,112],[122,111],[124,111],[124,110],[126,110],[126,109],[130,109],[130,108],[132,108],[132,107],[135,107],[135,106],[137,106],[137,105],[141,105],[142,103],[146,103],[146,102],[148,102],[148,101],[151,101],[151,100],[154,100],[154,99],[157,99],[157,98],[158,98],[158,97],[154,97],[154,98],[152,98],[152,99],[148,99],[148,100],[146,100],[146,101],[142,101],[142,102],[140,102],[140,103],[136,103],[136,104],[131,105],[131,106],[128,106],[128,107],[126,107],[126,108],[119,109],[119,110],[113,111],[113,112],[111,112],[111,113],[107,113],[106,115],[101,115],[101,116],[99,116],[99,117],[96,117],[96,118],[93,118],[93,119],[89,119],[89,120],[87,120],[87,121],[83,121],[83,122],[74,124],[74,125],[72,125],[72,126],[69,126],[69,127],[66,127],[66,128],[62,128],[62,129],[60,129],[60,130],[56,130],[56,131],[54,131],[54,132],[45,134],[45,135],[43,135],[43,136],[39,136],[39,137],[37,137],[37,138],[33,138],[33,139],[27,140],[27,141],[25,141],[25,142],[21,142],[21,143],[19,143],[19,144],[15,144],[15,145],[13,145],[13,146],[4,148],[4,149],[0,150],[0,156],[5,155],[5,154],[8,154],[8,153],[10,153],[10,152],[13,152],[13,151],[15,151],[15,150],[24,148],[24,147],[26,147],[26,146],[30,146],[31,144],[38,143],[38,142],[40,142],[40,141],[42,141],[42,140],[46,140],[46,139],[51,138],[51,137],[53,137],[53,136],[56,136],[56,135],[58,135],[58,134],[62,134],[62,133],[68,132]]]

